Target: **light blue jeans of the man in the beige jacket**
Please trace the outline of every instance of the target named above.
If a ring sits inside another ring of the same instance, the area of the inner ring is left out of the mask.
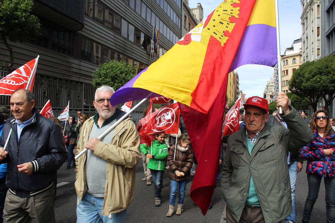
[[[127,209],[108,217],[101,214],[103,204],[104,198],[93,197],[86,193],[77,204],[77,223],[122,223],[126,220]]]

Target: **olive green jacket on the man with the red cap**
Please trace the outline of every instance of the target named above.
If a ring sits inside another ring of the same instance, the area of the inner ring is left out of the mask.
[[[313,132],[299,113],[291,106],[290,109],[289,114],[282,116],[288,129],[265,124],[251,155],[246,142],[246,128],[228,139],[222,167],[222,190],[236,221],[241,218],[251,177],[266,223],[280,222],[292,212],[288,151],[309,143]]]

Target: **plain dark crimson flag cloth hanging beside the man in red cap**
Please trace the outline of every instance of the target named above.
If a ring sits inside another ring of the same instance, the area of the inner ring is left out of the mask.
[[[219,168],[227,80],[226,78],[223,82],[223,86],[207,114],[179,103],[198,161],[190,195],[203,215],[207,213],[212,200]]]

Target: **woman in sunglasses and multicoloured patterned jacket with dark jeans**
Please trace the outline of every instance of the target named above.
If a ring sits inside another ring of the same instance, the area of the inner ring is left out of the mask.
[[[308,196],[305,202],[302,222],[309,222],[320,183],[324,177],[326,188],[327,222],[335,220],[335,133],[330,125],[327,111],[318,110],[313,114],[310,128],[314,139],[300,149],[307,161]]]

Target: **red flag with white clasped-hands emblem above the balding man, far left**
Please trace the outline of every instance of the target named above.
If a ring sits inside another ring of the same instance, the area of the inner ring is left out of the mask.
[[[39,57],[19,67],[0,80],[0,95],[12,95],[15,90],[34,88],[35,74]]]

